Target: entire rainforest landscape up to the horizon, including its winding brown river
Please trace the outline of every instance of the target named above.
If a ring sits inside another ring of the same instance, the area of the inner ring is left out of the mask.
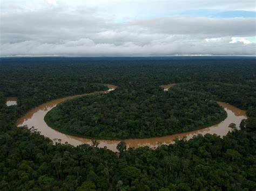
[[[254,57],[1,58],[0,189],[255,190],[255,84]]]

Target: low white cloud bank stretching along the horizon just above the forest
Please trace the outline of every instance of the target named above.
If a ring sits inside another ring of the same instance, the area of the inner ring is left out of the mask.
[[[169,43],[154,42],[138,45],[126,42],[122,45],[110,43],[96,44],[91,39],[67,41],[62,44],[38,43],[23,41],[15,44],[1,45],[1,55],[76,55],[76,56],[123,56],[123,55],[253,55],[255,46],[252,44],[230,44],[228,40],[205,43],[204,40],[172,41]]]

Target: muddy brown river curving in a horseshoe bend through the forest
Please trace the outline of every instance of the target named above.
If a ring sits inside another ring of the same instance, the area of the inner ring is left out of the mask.
[[[109,87],[109,90],[107,91],[97,91],[95,93],[90,94],[82,94],[82,95],[76,95],[76,96],[69,96],[60,98],[57,100],[53,100],[50,102],[46,102],[42,105],[39,105],[38,107],[30,110],[25,116],[18,119],[16,125],[17,126],[28,126],[28,128],[31,128],[32,126],[41,132],[41,135],[44,135],[45,137],[48,137],[55,141],[56,139],[61,139],[62,143],[68,142],[71,145],[77,146],[80,144],[90,144],[91,145],[91,139],[87,138],[81,138],[81,137],[75,137],[70,135],[65,135],[64,133],[58,132],[57,130],[51,129],[44,121],[44,116],[49,112],[52,108],[54,108],[57,104],[60,102],[63,102],[65,100],[70,100],[75,97],[80,97],[84,95],[93,95],[93,94],[99,94],[99,93],[107,93],[110,90],[114,90],[117,87],[107,84],[107,87]],[[128,147],[139,147],[139,146],[149,146],[149,147],[157,147],[159,143],[161,144],[172,144],[174,142],[174,139],[178,138],[184,138],[191,139],[194,135],[198,135],[199,133],[202,135],[205,135],[206,133],[216,134],[219,136],[224,136],[227,134],[228,131],[231,131],[230,128],[228,128],[228,125],[231,123],[235,123],[237,126],[239,126],[242,119],[246,119],[246,112],[244,110],[238,109],[234,107],[233,105],[224,103],[224,102],[217,102],[221,107],[225,109],[227,112],[227,118],[217,124],[210,126],[208,128],[196,130],[196,131],[190,131],[185,133],[178,133],[171,136],[164,136],[164,137],[154,137],[154,138],[145,138],[145,139],[125,139],[124,141],[127,143]],[[97,139],[97,142],[99,143],[99,147],[107,147],[110,150],[116,152],[116,146],[120,142],[120,140],[103,140],[103,139]]]

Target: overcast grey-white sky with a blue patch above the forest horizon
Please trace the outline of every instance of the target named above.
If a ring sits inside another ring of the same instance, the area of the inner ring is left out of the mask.
[[[0,0],[0,56],[255,55],[254,0]]]

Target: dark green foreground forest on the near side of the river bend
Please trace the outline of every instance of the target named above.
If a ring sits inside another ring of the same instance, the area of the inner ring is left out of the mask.
[[[53,145],[37,132],[12,128],[0,138],[0,189],[252,190],[255,122],[223,139],[207,134],[156,150],[129,148],[120,159],[105,148]]]

